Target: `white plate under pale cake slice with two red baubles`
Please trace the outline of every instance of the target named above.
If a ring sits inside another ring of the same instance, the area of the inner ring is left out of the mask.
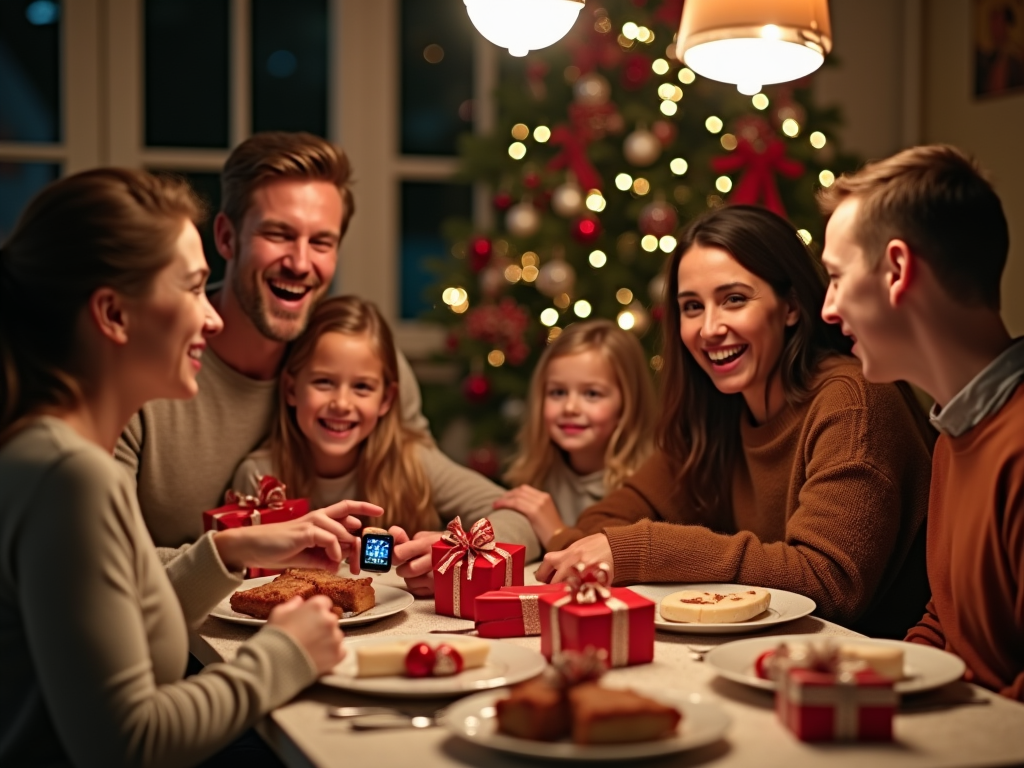
[[[488,640],[490,652],[487,655],[487,663],[483,667],[466,670],[451,677],[409,678],[398,675],[393,677],[355,677],[355,648],[407,640],[436,645],[458,642],[460,636],[421,634],[346,638],[345,648],[348,653],[344,660],[335,667],[330,675],[322,677],[319,682],[343,690],[373,693],[379,696],[403,696],[407,698],[452,696],[488,688],[501,688],[505,685],[529,680],[544,672],[544,668],[548,666],[545,657],[532,648]]]

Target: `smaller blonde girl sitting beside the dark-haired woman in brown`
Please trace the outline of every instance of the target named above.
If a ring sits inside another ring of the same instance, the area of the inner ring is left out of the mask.
[[[516,487],[495,508],[526,516],[546,547],[647,459],[653,431],[640,342],[610,321],[573,324],[534,372],[519,452],[505,474]]]

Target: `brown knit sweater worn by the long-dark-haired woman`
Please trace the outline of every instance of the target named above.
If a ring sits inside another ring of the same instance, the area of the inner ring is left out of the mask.
[[[807,595],[830,621],[902,637],[928,599],[934,432],[916,403],[868,384],[851,358],[827,359],[812,384],[768,423],[743,419],[731,510],[694,510],[659,453],[551,549],[603,530],[618,584],[774,587]]]

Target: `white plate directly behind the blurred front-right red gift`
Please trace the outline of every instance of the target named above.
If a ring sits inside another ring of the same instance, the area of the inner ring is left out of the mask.
[[[755,688],[775,690],[774,680],[757,676],[754,663],[759,655],[779,643],[821,642],[828,635],[775,635],[773,637],[752,637],[736,640],[713,648],[705,656],[705,664],[724,678]],[[839,643],[850,645],[897,646],[903,650],[903,672],[906,678],[894,686],[897,693],[920,693],[938,688],[946,683],[959,680],[967,669],[964,662],[952,653],[919,643],[904,643],[902,640],[882,640],[868,637],[834,637]]]

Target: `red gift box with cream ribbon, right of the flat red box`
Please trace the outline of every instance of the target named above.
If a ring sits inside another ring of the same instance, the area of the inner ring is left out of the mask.
[[[543,594],[541,652],[550,660],[563,650],[603,649],[608,666],[654,658],[654,603],[633,590],[608,587],[608,566],[577,565],[563,594]]]

